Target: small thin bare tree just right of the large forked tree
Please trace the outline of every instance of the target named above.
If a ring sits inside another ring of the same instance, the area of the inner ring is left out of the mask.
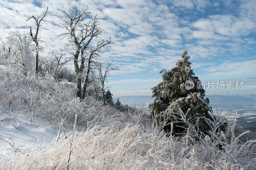
[[[102,70],[104,65],[106,65],[106,70]],[[111,70],[119,70],[118,66],[113,67],[116,65],[113,63],[113,61],[106,61],[106,62],[101,62],[99,66],[99,76],[100,76],[100,85],[101,85],[101,93],[102,93],[102,100],[103,100],[103,105],[106,105],[105,101],[105,89],[109,87],[105,87],[105,83],[108,82],[107,77],[109,76],[109,73]]]

